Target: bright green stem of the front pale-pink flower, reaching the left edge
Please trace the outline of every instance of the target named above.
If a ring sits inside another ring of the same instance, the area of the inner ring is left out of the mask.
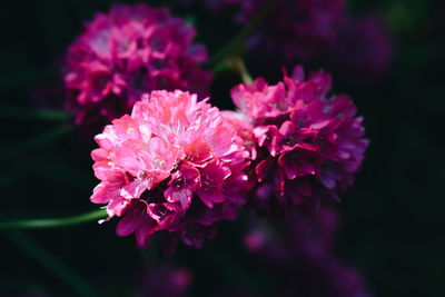
[[[9,229],[37,229],[37,228],[58,228],[66,226],[79,225],[92,220],[103,219],[107,217],[105,209],[93,210],[87,214],[68,217],[68,218],[52,218],[52,219],[28,219],[16,221],[0,222],[0,230]]]

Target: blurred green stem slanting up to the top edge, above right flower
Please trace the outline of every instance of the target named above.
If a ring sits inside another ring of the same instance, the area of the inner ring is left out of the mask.
[[[218,69],[218,63],[229,56],[239,55],[243,50],[244,42],[250,32],[258,26],[263,18],[269,12],[276,0],[268,0],[264,7],[243,27],[241,31],[219,52],[210,58],[208,63],[214,68]]]

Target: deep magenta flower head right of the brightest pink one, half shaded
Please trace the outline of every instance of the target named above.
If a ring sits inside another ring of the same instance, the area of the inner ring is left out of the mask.
[[[305,80],[297,66],[291,77],[269,86],[263,78],[231,90],[238,116],[231,120],[244,137],[257,180],[253,205],[258,210],[337,200],[359,169],[368,140],[363,118],[348,96],[327,97],[332,78],[319,71]],[[248,126],[248,127],[246,127]],[[246,133],[251,130],[253,136]],[[253,148],[251,142],[255,142]]]

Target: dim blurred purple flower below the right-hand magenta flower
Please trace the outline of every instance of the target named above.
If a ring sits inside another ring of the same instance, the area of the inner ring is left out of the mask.
[[[261,269],[276,275],[275,296],[372,296],[359,271],[332,253],[337,227],[333,209],[308,209],[273,222],[253,221],[256,226],[247,234],[245,247]]]

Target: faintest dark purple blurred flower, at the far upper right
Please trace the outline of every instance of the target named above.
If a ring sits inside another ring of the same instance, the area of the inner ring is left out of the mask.
[[[333,66],[349,82],[370,85],[382,80],[390,68],[393,40],[377,17],[348,20],[330,52]]]

